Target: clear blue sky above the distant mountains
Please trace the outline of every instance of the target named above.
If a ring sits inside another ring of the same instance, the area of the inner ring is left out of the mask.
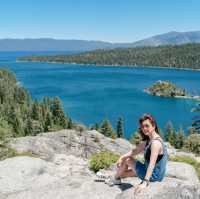
[[[0,39],[134,42],[200,31],[200,0],[0,0]]]

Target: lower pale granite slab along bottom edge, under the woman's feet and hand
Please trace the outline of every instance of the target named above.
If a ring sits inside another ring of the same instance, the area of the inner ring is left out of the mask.
[[[52,162],[24,156],[1,161],[0,176],[0,196],[5,199],[197,199],[200,196],[199,184],[191,185],[172,177],[151,183],[142,193],[134,195],[138,178],[126,178],[122,185],[109,187],[94,181],[95,175],[88,170],[86,160],[64,154],[55,155]]]

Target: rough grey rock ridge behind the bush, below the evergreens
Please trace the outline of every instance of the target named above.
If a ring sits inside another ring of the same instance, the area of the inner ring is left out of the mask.
[[[47,161],[52,161],[54,154],[59,153],[88,158],[100,151],[124,154],[133,148],[127,140],[105,137],[95,130],[79,132],[69,129],[16,138],[10,146],[19,152],[30,151]]]

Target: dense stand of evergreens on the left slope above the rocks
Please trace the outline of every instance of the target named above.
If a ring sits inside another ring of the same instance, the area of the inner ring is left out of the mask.
[[[54,130],[68,127],[59,99],[44,97],[41,102],[33,101],[7,69],[0,69],[0,113],[13,137],[36,135],[52,126]]]

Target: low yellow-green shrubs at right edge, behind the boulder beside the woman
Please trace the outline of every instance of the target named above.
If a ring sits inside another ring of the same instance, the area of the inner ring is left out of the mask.
[[[195,168],[197,175],[200,179],[200,162],[197,162],[195,159],[193,159],[191,157],[186,157],[186,156],[184,156],[184,157],[173,156],[173,157],[170,157],[170,160],[175,161],[175,162],[185,162],[185,163],[192,165]]]

